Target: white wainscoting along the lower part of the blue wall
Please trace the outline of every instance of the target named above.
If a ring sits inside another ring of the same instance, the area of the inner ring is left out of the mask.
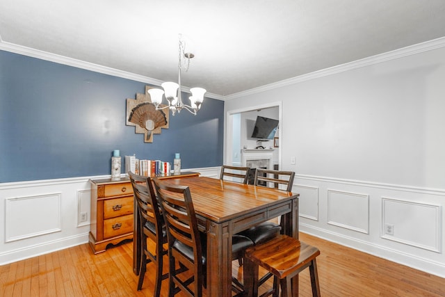
[[[218,178],[220,167],[187,168]],[[94,177],[0,184],[0,265],[88,243]],[[86,221],[81,214],[86,213]]]

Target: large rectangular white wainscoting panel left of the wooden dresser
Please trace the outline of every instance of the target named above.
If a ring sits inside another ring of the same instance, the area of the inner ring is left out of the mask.
[[[60,193],[6,199],[5,241],[60,232]]]

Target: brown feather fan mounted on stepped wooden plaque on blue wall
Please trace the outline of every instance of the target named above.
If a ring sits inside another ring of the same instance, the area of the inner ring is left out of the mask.
[[[144,134],[144,142],[152,143],[153,134],[161,134],[161,129],[168,129],[168,109],[156,111],[152,99],[147,93],[136,94],[136,99],[127,98],[127,126],[135,126],[135,133]],[[163,107],[163,105],[159,106]]]

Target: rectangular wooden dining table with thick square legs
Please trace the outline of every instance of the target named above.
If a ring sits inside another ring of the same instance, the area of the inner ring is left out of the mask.
[[[282,232],[298,239],[297,193],[210,177],[162,182],[190,188],[200,230],[207,233],[208,296],[232,296],[233,234],[281,216]],[[293,289],[298,296],[298,278]]]

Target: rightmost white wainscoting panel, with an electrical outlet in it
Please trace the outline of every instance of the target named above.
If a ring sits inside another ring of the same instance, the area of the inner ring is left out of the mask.
[[[441,252],[439,205],[382,197],[382,238]]]

